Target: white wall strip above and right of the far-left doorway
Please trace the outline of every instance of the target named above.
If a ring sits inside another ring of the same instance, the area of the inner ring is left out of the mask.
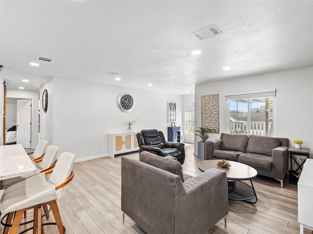
[[[6,98],[31,99],[31,148],[36,148],[38,144],[39,131],[39,94],[36,91],[25,91],[16,89],[7,89]]]

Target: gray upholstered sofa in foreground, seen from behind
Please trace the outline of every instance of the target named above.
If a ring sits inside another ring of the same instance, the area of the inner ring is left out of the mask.
[[[121,209],[148,234],[202,234],[228,214],[226,173],[185,181],[179,161],[141,152],[121,158]],[[226,219],[225,219],[226,226]]]

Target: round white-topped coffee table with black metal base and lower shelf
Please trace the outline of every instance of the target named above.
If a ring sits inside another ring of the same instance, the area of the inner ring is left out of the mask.
[[[231,167],[223,168],[217,165],[219,159],[209,159],[198,163],[198,168],[205,172],[211,168],[216,168],[226,172],[228,180],[228,199],[243,200],[249,203],[256,203],[256,196],[252,178],[258,175],[257,171],[246,164],[229,161]],[[251,186],[241,180],[250,180]]]

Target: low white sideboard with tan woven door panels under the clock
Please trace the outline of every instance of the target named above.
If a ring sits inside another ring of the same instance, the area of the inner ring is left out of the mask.
[[[138,132],[109,133],[108,155],[110,157],[114,157],[114,155],[139,150],[138,141],[136,137],[137,133]]]

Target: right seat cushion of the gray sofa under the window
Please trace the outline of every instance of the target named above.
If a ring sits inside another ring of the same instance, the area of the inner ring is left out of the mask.
[[[250,167],[260,168],[270,171],[272,168],[272,157],[253,153],[245,153],[238,156],[238,162],[249,165]]]

